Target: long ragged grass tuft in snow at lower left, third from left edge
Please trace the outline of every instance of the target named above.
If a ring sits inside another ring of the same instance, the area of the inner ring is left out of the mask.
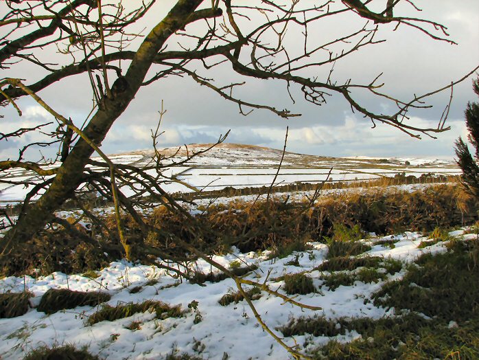
[[[164,302],[147,300],[140,304],[128,302],[117,306],[104,305],[100,310],[89,317],[87,323],[93,325],[103,321],[114,322],[117,319],[130,317],[136,313],[146,313],[147,311],[154,311],[156,313],[156,319],[183,316],[180,305],[170,306]]]

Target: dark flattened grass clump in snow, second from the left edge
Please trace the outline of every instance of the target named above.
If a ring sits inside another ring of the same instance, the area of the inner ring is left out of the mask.
[[[68,289],[49,289],[42,296],[36,310],[52,314],[66,308],[75,308],[77,306],[97,306],[108,300],[110,300],[109,294],[97,291],[83,292]]]

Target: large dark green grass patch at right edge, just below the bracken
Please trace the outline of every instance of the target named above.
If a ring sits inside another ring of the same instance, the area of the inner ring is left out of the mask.
[[[479,318],[478,249],[479,240],[455,241],[444,254],[424,254],[402,280],[375,293],[374,304],[445,320]]]

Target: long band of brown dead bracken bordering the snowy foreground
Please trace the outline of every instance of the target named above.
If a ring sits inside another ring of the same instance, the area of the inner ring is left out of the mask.
[[[132,256],[145,263],[160,254],[165,259],[185,258],[185,249],[174,238],[194,244],[207,254],[221,254],[235,245],[243,252],[271,249],[272,256],[280,258],[292,251],[305,251],[308,241],[319,241],[329,243],[329,258],[335,258],[361,254],[369,249],[354,241],[364,237],[365,232],[431,232],[436,227],[447,229],[452,225],[472,224],[478,219],[478,209],[477,199],[467,196],[460,185],[449,184],[415,192],[385,189],[344,192],[319,196],[313,205],[277,198],[253,203],[233,201],[202,208],[195,221],[159,206],[150,214],[143,214],[143,221],[160,228],[161,232],[150,232],[146,237],[131,216],[123,216],[122,221]],[[81,228],[81,231],[91,235],[91,229]],[[101,269],[123,256],[115,216],[104,219],[104,225],[95,229],[95,238],[86,236],[71,251],[73,240],[67,229],[52,229],[25,244],[32,256],[11,254],[5,259],[1,273],[33,274],[34,269],[39,269],[40,274],[53,271],[85,273]],[[394,246],[394,242],[386,243]],[[216,276],[191,275],[197,282],[211,281]]]

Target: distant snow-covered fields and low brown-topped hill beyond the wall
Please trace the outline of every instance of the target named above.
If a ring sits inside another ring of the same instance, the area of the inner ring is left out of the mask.
[[[188,154],[204,150],[205,145],[188,146]],[[250,186],[270,185],[277,173],[282,152],[259,146],[237,144],[220,144],[205,154],[194,157],[183,166],[171,167],[172,161],[179,162],[186,159],[186,150],[181,148],[165,148],[162,153],[175,155],[165,161],[163,174],[165,177],[176,175],[176,179],[184,181],[197,190],[218,190],[228,186],[244,188]],[[122,155],[112,155],[110,159],[116,164],[130,164],[135,166],[152,166],[152,152],[138,151]],[[100,161],[101,159],[96,159]],[[45,166],[52,168],[54,165]],[[285,153],[283,164],[275,185],[285,185],[301,182],[319,183],[329,181],[360,181],[394,177],[397,174],[416,177],[422,174],[459,175],[460,170],[452,160],[419,159],[419,158],[390,158],[379,159],[371,157],[319,157]],[[155,170],[149,170],[153,174]],[[5,180],[26,180],[36,182],[32,172],[14,169]],[[178,181],[165,181],[162,187],[167,192],[191,192],[192,188]],[[0,203],[16,203],[25,199],[30,188],[23,185],[0,183]],[[128,195],[128,190],[124,190]],[[38,196],[37,196],[38,197]],[[36,199],[36,198],[34,198]]]

